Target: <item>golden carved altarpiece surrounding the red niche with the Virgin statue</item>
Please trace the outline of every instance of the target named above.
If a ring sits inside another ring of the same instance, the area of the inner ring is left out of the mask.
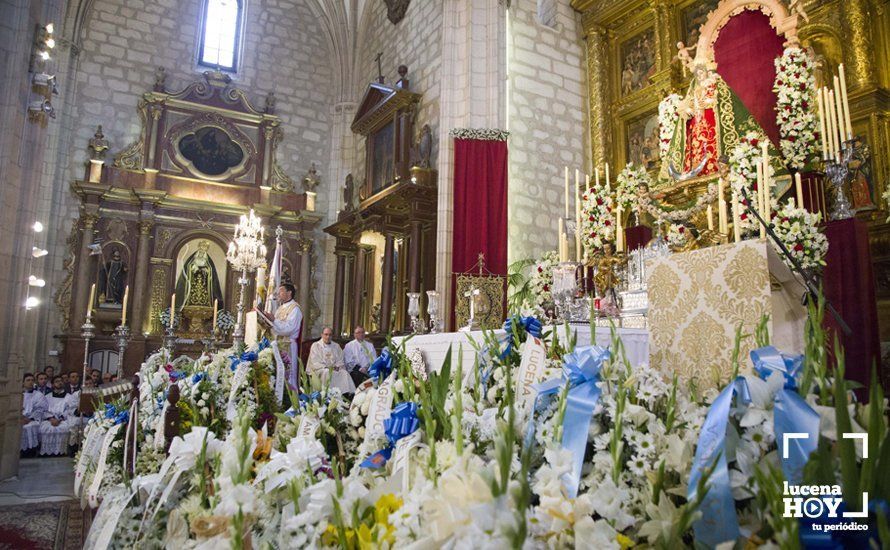
[[[634,157],[648,158],[647,134],[645,130],[641,134],[641,126],[648,126],[647,121],[657,117],[662,98],[670,93],[682,95],[690,83],[691,75],[684,74],[677,58],[677,43],[694,46],[701,37],[701,25],[721,4],[730,3],[765,5],[766,9],[779,4],[777,0],[572,1],[581,13],[587,46],[590,158],[594,166],[602,169],[609,162],[617,172]],[[781,4],[787,9],[787,2]],[[881,339],[888,340],[890,225],[885,222],[888,208],[883,194],[890,181],[890,3],[805,0],[799,4],[808,20],[798,17],[796,32],[801,45],[811,50],[820,64],[818,84],[826,84],[826,76],[835,74],[840,63],[845,64],[853,130],[871,149],[867,168],[870,177],[860,182],[859,193],[864,197],[863,189],[867,189],[866,198],[874,206],[866,205],[857,215],[870,224]],[[641,53],[639,47],[647,43],[651,51]],[[645,79],[638,78],[640,68],[646,67],[649,59],[654,60],[654,66],[646,68]],[[677,186],[673,193],[675,198],[688,198],[703,189],[703,183],[693,182]]]

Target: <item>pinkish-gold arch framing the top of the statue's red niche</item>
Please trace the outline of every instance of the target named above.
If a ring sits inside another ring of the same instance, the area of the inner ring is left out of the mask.
[[[708,15],[708,20],[701,27],[701,35],[695,48],[696,62],[712,62],[714,60],[714,42],[720,30],[733,15],[745,10],[763,12],[770,19],[770,25],[776,32],[785,37],[785,44],[797,44],[797,14],[789,13],[788,8],[780,0],[724,0]]]

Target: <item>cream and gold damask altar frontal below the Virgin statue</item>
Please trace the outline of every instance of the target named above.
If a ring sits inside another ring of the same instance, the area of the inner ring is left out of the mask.
[[[732,374],[737,328],[753,334],[765,314],[776,345],[799,351],[801,343],[787,337],[793,333],[790,326],[802,329],[803,307],[788,296],[798,288],[781,261],[770,256],[766,241],[751,240],[653,260],[648,272],[651,365],[702,386],[713,386],[717,377],[725,382]],[[755,347],[753,337],[742,340],[742,369],[748,368]]]

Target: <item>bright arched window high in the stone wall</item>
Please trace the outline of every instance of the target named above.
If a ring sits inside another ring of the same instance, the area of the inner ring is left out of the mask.
[[[238,68],[244,0],[204,0],[198,63],[223,71]]]

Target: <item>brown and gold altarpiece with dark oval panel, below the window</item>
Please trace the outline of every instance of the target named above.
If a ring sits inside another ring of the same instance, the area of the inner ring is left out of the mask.
[[[116,353],[113,331],[121,320],[123,286],[130,290],[132,335],[123,373],[135,371],[160,347],[160,314],[174,293],[181,320],[176,352],[200,352],[211,333],[213,303],[228,312],[236,308],[238,274],[229,269],[225,250],[248,209],[268,228],[270,254],[274,228],[282,227],[286,275],[297,286],[305,326],[311,326],[319,313],[311,269],[321,216],[314,212],[314,192],[299,188],[276,160],[283,130],[274,106],[272,96],[264,107],[254,106],[220,73],[206,72],[179,92],[167,91],[159,77],[134,113],[139,136],[108,164],[104,152],[116,144],[97,130],[84,177],[71,184],[81,200],[81,219],[70,241],[70,277],[57,299],[68,318],[60,338],[64,370],[83,363],[80,327],[93,283],[99,292],[92,304],[91,354]],[[254,286],[245,292],[247,301]]]

